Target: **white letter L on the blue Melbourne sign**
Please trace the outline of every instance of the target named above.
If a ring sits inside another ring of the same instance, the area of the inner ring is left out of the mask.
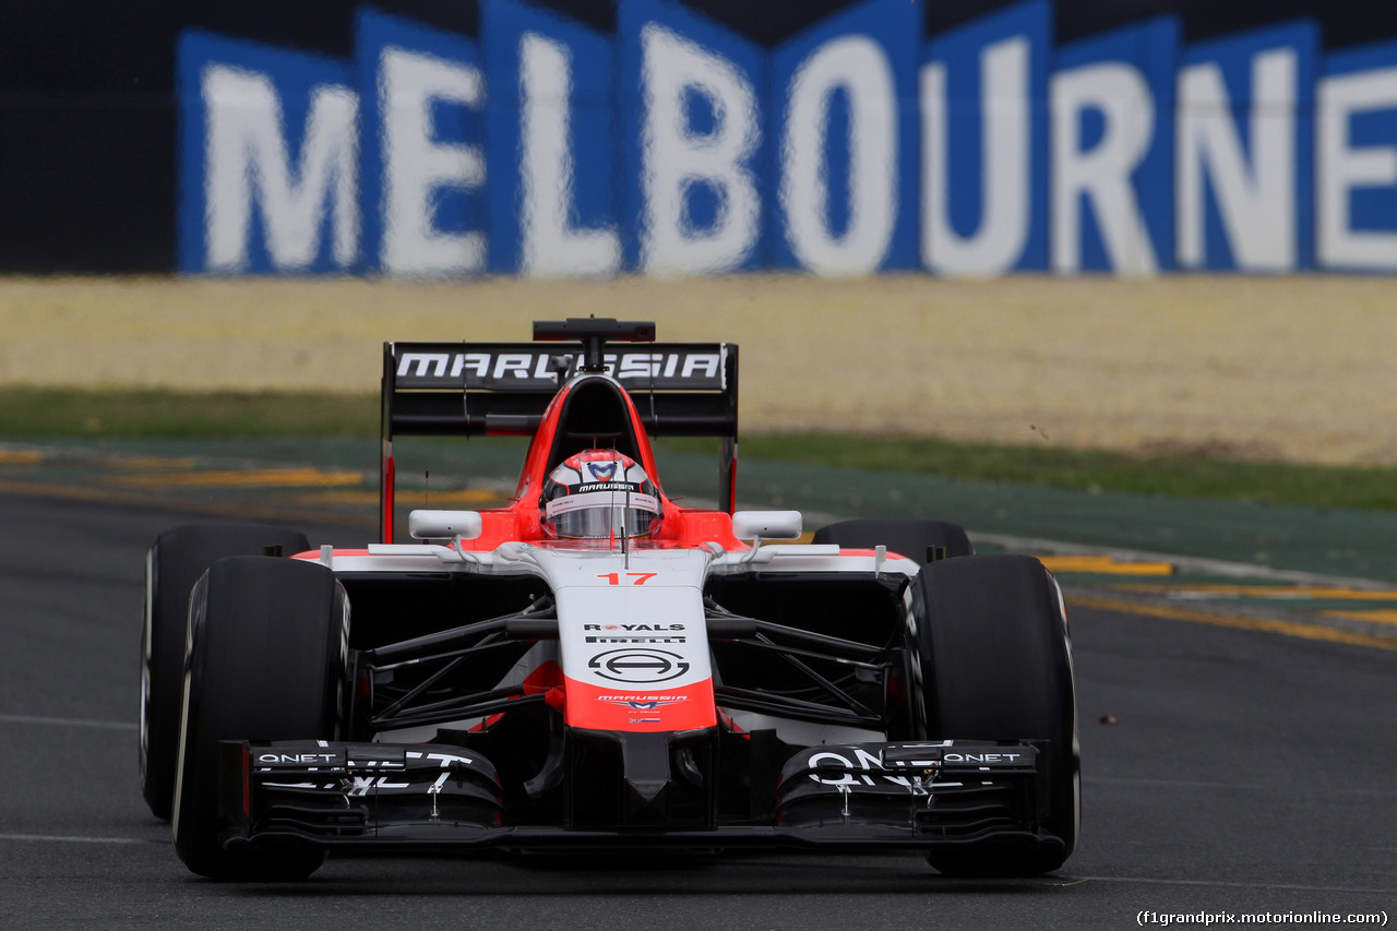
[[[571,226],[571,62],[536,32],[520,36],[521,271],[536,278],[609,275],[620,267],[616,231]]]

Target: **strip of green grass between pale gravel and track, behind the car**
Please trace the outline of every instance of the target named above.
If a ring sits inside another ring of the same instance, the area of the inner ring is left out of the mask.
[[[0,389],[0,439],[256,439],[377,436],[376,396],[264,391]],[[672,452],[711,450],[666,440]],[[1208,456],[953,443],[830,433],[745,435],[742,459],[819,463],[1078,491],[1397,510],[1397,468],[1259,463]]]

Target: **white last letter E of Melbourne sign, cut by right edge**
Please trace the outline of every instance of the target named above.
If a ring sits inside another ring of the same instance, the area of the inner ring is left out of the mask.
[[[1397,271],[1397,232],[1354,229],[1350,211],[1355,190],[1397,185],[1397,147],[1354,148],[1350,138],[1354,116],[1397,110],[1397,67],[1327,77],[1317,96],[1319,260],[1327,268]]]

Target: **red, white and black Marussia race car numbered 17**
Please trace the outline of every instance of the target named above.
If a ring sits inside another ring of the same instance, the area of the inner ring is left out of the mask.
[[[1077,717],[1044,566],[939,521],[771,545],[802,520],[733,513],[738,347],[599,319],[534,338],[384,347],[381,542],[226,524],[151,549],[141,783],[189,868],[483,847],[1060,867]],[[415,510],[397,542],[401,435],[532,445],[507,507]],[[666,496],[652,435],[722,438],[721,509]]]

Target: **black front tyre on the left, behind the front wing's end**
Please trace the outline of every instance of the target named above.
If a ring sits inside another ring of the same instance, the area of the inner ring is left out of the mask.
[[[214,879],[295,881],[324,863],[307,847],[225,850],[218,816],[222,739],[335,739],[344,719],[349,611],[319,563],[219,559],[190,607],[175,850]]]

